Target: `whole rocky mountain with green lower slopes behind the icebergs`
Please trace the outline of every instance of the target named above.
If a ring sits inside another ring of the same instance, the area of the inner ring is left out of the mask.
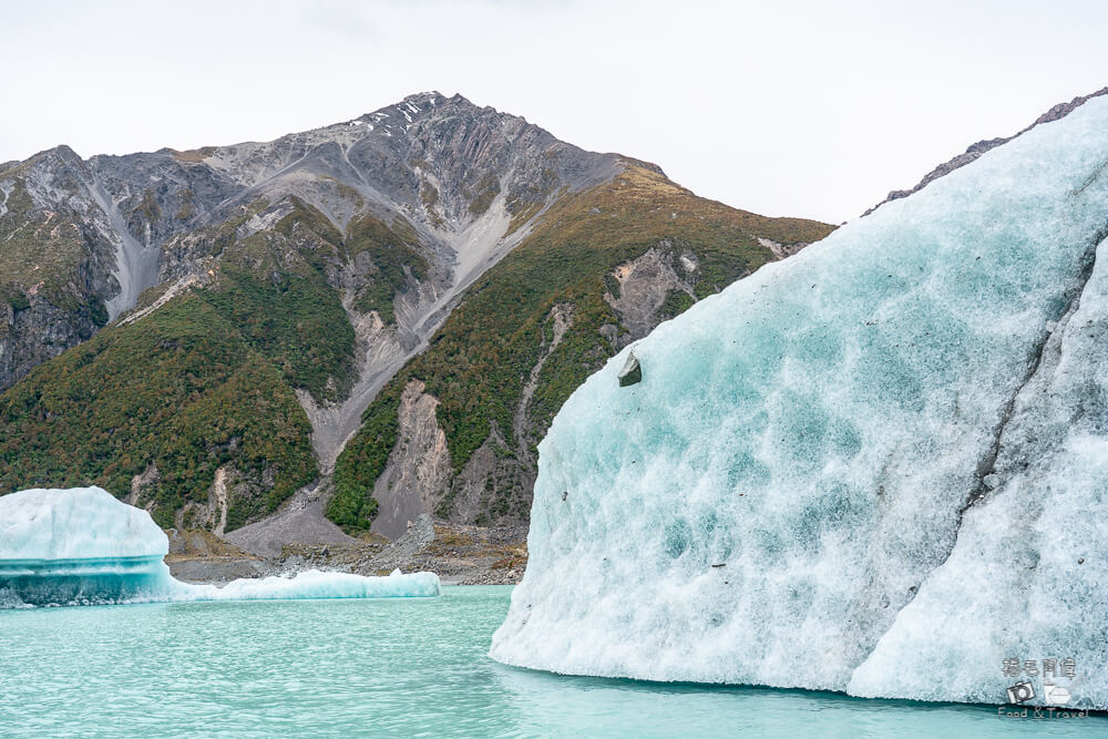
[[[591,371],[831,230],[439,93],[266,143],[59,146],[0,197],[0,492],[99,484],[269,551],[345,541],[325,512],[525,521]]]

